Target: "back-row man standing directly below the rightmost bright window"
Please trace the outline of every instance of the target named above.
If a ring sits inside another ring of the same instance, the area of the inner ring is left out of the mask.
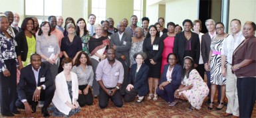
[[[138,17],[136,15],[132,15],[131,17],[131,25],[129,27],[126,27],[125,32],[132,37],[135,36],[135,29],[137,27],[138,23]]]

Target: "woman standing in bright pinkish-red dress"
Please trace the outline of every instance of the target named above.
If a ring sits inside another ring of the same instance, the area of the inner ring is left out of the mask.
[[[167,27],[168,27],[168,32],[164,33],[161,36],[162,40],[164,40],[164,51],[162,54],[163,58],[162,58],[161,74],[163,72],[164,65],[168,64],[168,61],[166,61],[168,58],[168,55],[172,53],[174,49],[175,24],[172,22],[167,23]]]

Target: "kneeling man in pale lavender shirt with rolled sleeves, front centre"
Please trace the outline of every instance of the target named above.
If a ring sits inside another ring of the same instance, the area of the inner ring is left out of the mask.
[[[108,106],[108,100],[111,99],[116,107],[122,107],[122,95],[120,87],[124,80],[124,68],[121,62],[115,59],[114,49],[107,50],[107,59],[102,60],[96,69],[96,80],[100,85],[100,94],[98,105],[101,109]],[[126,87],[125,87],[126,88]]]

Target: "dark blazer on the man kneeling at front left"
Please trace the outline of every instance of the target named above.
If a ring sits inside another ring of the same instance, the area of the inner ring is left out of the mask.
[[[21,76],[19,77],[20,80],[17,86],[19,99],[26,99],[27,95],[33,95],[38,86],[45,85],[46,88],[53,86],[53,77],[49,64],[41,63],[37,84],[32,68],[32,65],[29,64],[21,69]],[[45,78],[45,82],[41,82],[41,78]]]

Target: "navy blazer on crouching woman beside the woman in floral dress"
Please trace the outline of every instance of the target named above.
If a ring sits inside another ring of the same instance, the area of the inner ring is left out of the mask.
[[[162,73],[160,84],[167,81],[166,73],[167,73],[168,67],[169,67],[169,64],[164,65],[164,70]],[[172,70],[171,86],[180,86],[181,82],[182,82],[182,66],[180,66],[180,64],[176,64],[174,66],[174,69]]]

